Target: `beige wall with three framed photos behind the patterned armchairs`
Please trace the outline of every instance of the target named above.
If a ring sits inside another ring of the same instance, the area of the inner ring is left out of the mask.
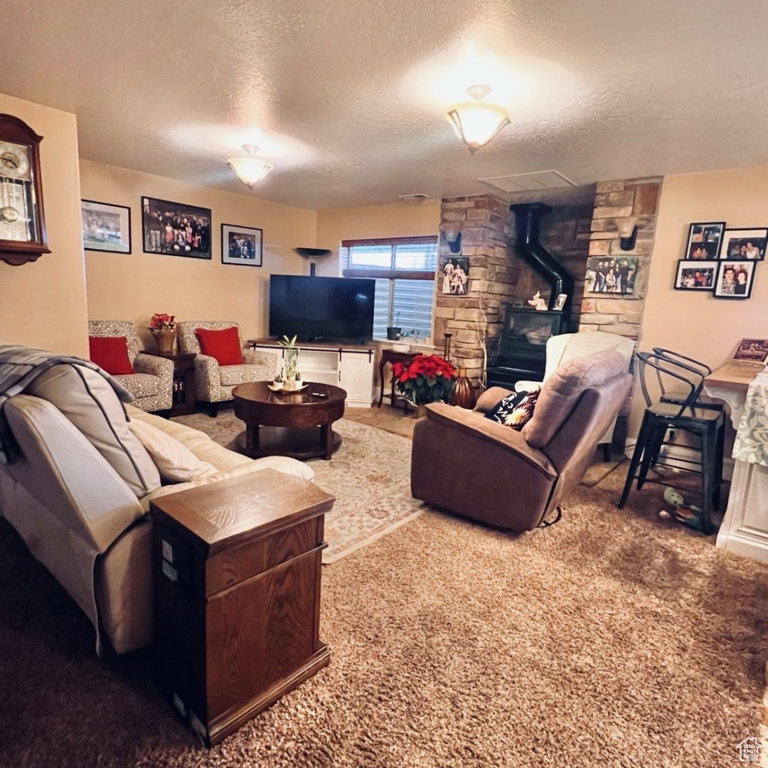
[[[146,326],[155,312],[232,319],[244,338],[266,335],[270,273],[303,273],[305,261],[293,249],[314,246],[315,211],[86,160],[80,173],[84,199],[131,207],[132,253],[85,252],[88,319],[131,320],[150,348]],[[141,197],[210,208],[213,258],[144,253]],[[263,229],[263,266],[221,263],[222,223]]]

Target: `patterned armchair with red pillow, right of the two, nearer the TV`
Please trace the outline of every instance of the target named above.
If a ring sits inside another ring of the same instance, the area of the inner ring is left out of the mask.
[[[217,405],[232,399],[238,384],[272,381],[277,356],[243,346],[240,326],[230,320],[182,320],[177,323],[179,348],[197,353],[195,393],[211,415]]]

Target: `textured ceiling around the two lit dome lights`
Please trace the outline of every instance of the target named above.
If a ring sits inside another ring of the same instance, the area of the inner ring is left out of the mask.
[[[765,0],[3,0],[0,91],[78,115],[81,156],[301,207],[768,161]],[[512,124],[471,156],[475,82]]]

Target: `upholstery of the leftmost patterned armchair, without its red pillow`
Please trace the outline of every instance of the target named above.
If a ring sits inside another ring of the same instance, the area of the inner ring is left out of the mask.
[[[135,373],[114,376],[131,395],[133,405],[143,411],[167,411],[174,401],[174,362],[163,357],[142,355],[136,327],[127,320],[89,320],[88,336],[123,336],[128,359]]]

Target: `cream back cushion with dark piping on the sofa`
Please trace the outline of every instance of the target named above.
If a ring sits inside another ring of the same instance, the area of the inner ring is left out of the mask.
[[[109,382],[81,366],[53,366],[26,392],[56,406],[101,453],[137,498],[160,487],[160,473],[128,429],[122,403]]]

